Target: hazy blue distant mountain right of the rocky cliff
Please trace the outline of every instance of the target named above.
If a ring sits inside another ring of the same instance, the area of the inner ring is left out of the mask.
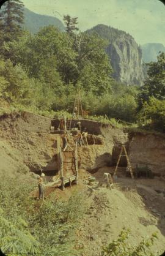
[[[144,62],[157,61],[157,56],[160,51],[165,52],[165,47],[162,43],[146,43],[141,45],[142,48],[142,60]]]

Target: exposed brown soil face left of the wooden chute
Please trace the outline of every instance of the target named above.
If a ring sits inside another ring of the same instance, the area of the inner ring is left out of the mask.
[[[56,136],[50,134],[51,119],[23,112],[1,116],[1,166],[0,173],[15,170],[39,170],[51,166],[56,154]],[[5,164],[2,164],[5,162]]]

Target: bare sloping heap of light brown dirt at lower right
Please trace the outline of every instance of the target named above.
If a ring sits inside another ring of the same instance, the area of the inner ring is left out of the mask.
[[[94,189],[93,186],[87,199],[86,217],[77,232],[77,248],[82,249],[82,255],[100,255],[101,248],[116,239],[125,227],[131,230],[128,240],[131,245],[157,232],[158,240],[152,252],[155,256],[160,255],[165,244],[165,198],[148,186],[141,187],[141,184],[136,192],[130,186],[130,179],[120,183],[122,185],[112,190],[106,187]]]

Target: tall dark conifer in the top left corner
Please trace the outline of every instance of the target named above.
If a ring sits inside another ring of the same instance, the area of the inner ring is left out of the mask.
[[[23,7],[24,4],[20,0],[5,2],[1,13],[5,42],[18,39],[21,35],[21,25],[24,23]]]

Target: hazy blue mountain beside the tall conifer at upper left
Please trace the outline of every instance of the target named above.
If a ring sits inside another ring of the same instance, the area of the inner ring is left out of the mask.
[[[24,28],[28,29],[32,34],[38,32],[40,28],[48,25],[54,25],[62,31],[65,29],[64,24],[58,18],[40,15],[24,8]]]

